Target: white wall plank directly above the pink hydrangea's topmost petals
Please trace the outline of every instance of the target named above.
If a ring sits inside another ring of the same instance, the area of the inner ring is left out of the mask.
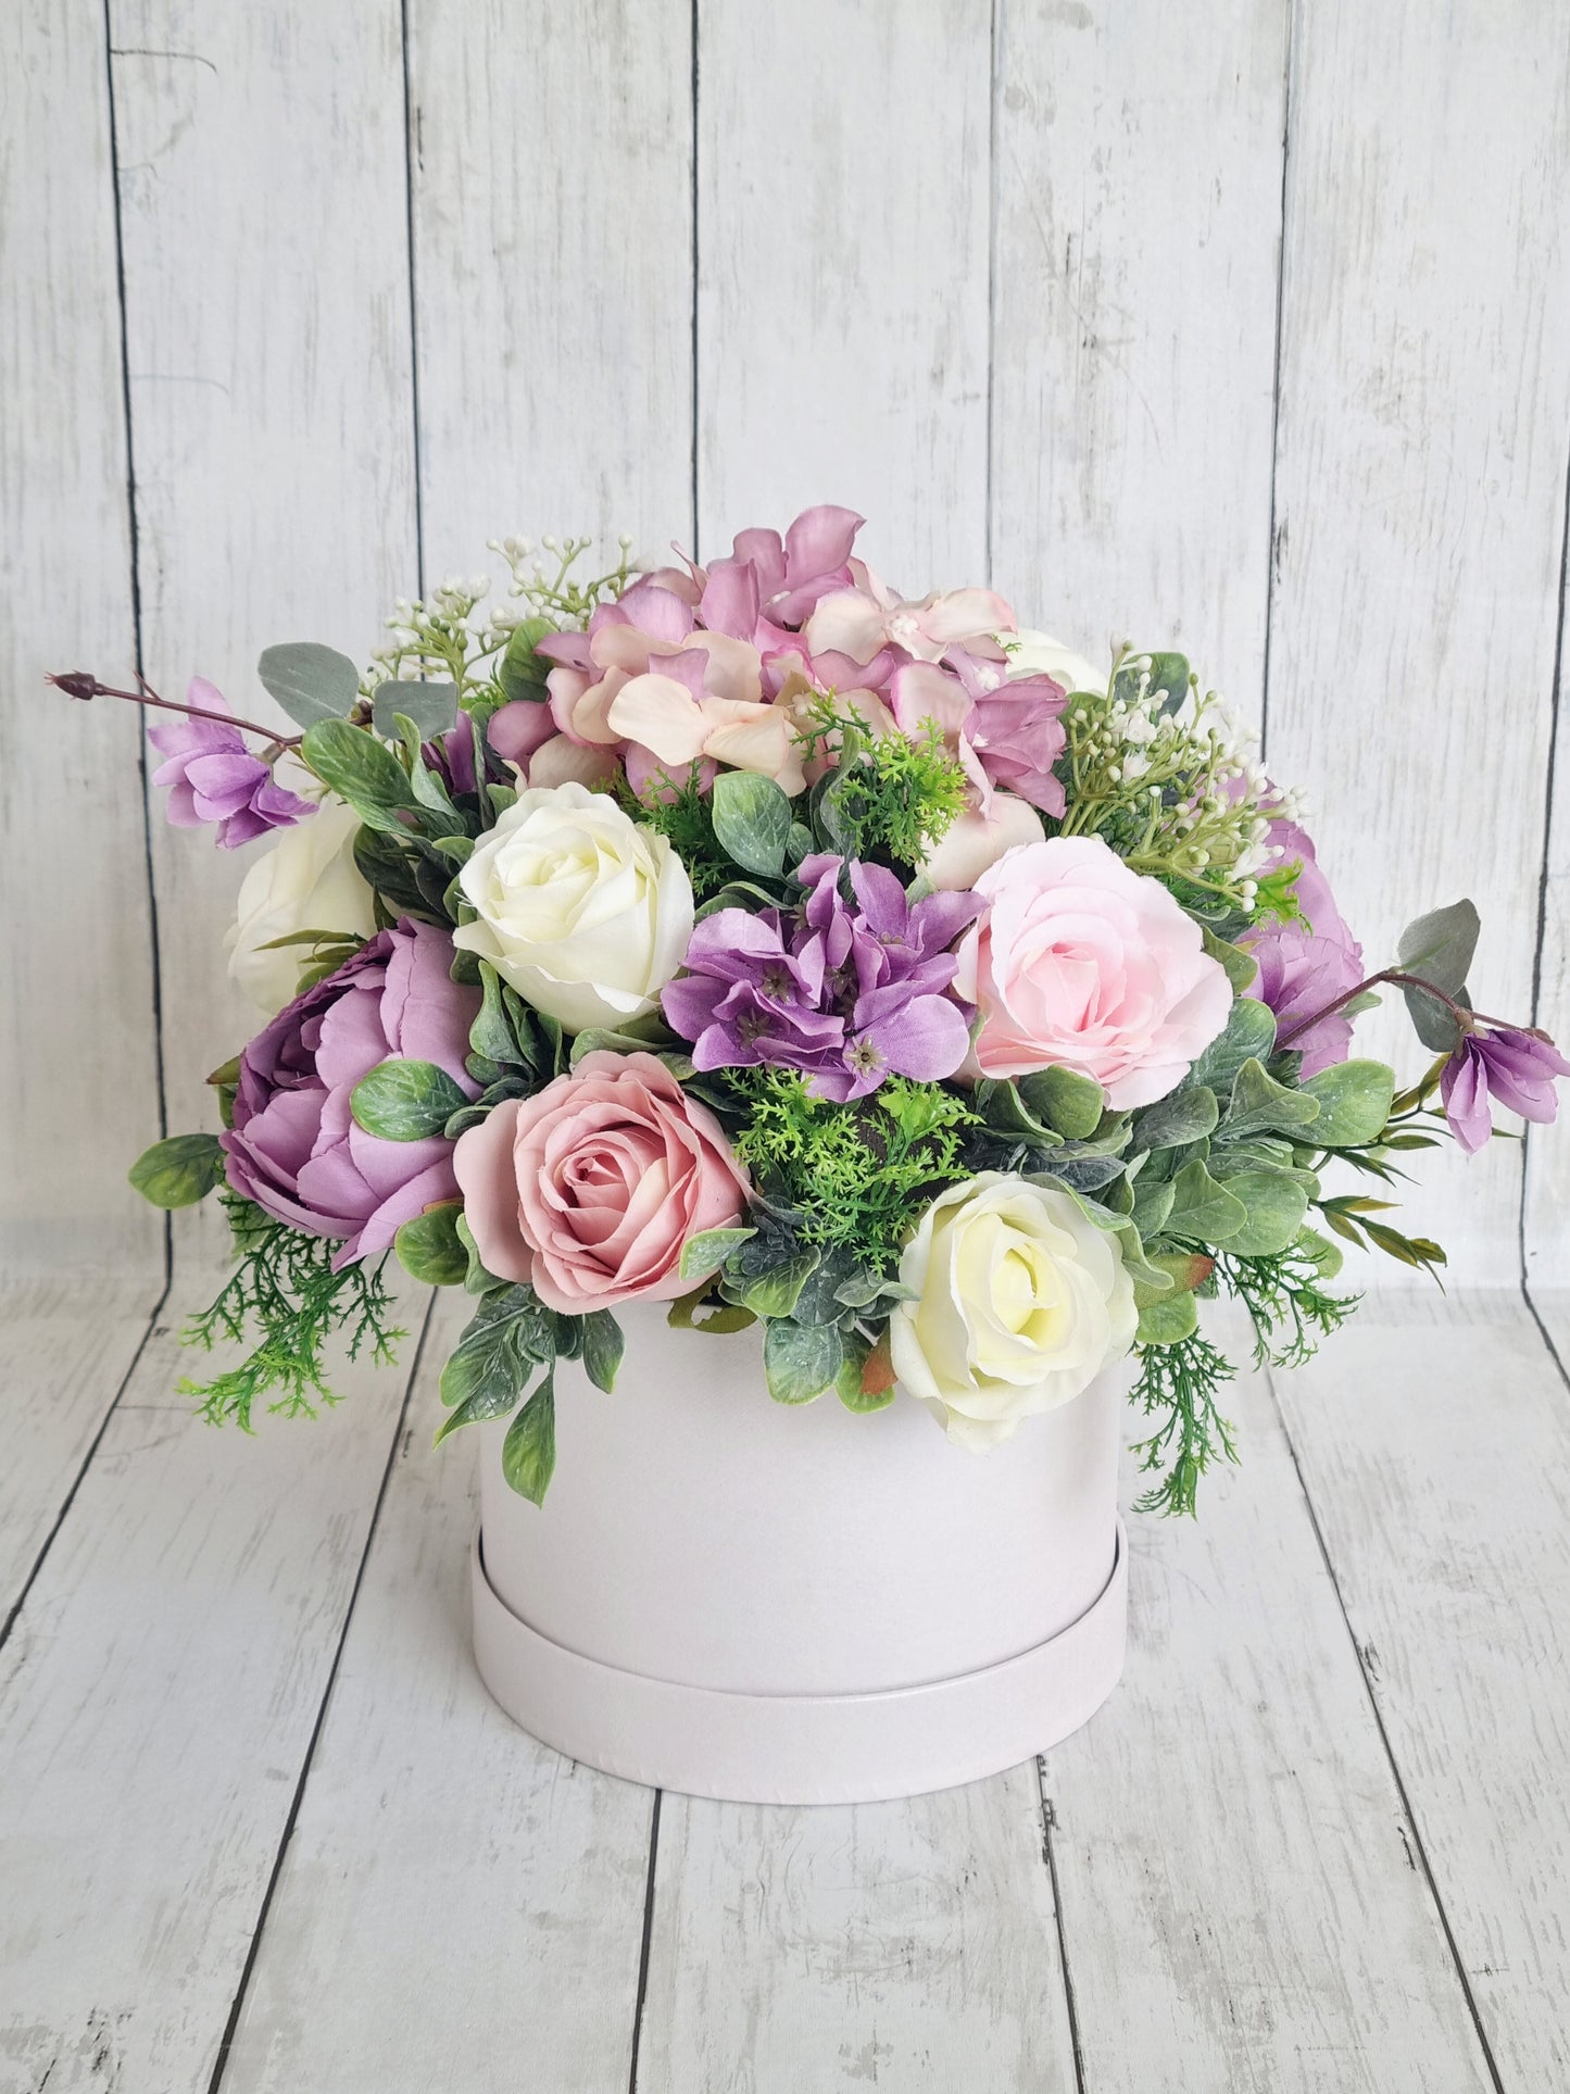
[[[986,576],[990,6],[699,6],[697,530],[812,503]]]

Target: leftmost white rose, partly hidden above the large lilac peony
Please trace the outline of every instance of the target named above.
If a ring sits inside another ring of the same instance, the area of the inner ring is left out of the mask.
[[[268,953],[266,944],[297,930],[368,938],[377,928],[371,888],[354,863],[358,827],[354,808],[329,794],[308,821],[281,829],[241,882],[237,915],[224,936],[228,974],[268,1018],[293,1003],[310,946],[285,944]]]

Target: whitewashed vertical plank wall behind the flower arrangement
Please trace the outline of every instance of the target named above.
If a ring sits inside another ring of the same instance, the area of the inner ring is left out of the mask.
[[[247,1026],[243,865],[159,808],[149,865],[134,722],[42,668],[140,649],[266,708],[262,645],[364,653],[504,530],[712,551],[848,500],[913,591],[1176,639],[1269,720],[1369,953],[1470,890],[1488,1007],[1570,1022],[1570,48],[1534,0],[1444,38],[1419,0],[1204,36],[1153,0],[111,0],[107,34],[6,17],[6,1269],[157,1265],[121,1171],[159,1057],[193,1124]],[[1413,1215],[1547,1286],[1568,1194],[1534,1135]]]

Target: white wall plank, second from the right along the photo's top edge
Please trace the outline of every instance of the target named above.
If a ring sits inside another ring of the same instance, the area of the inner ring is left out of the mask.
[[[1185,647],[1258,725],[1287,6],[1212,25],[999,10],[992,580],[1097,660]]]

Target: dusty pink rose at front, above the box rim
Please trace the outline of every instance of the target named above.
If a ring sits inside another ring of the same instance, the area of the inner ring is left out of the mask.
[[[733,1227],[749,1181],[708,1106],[651,1053],[597,1049],[534,1097],[509,1099],[452,1154],[486,1271],[586,1315],[674,1300],[682,1244]]]

